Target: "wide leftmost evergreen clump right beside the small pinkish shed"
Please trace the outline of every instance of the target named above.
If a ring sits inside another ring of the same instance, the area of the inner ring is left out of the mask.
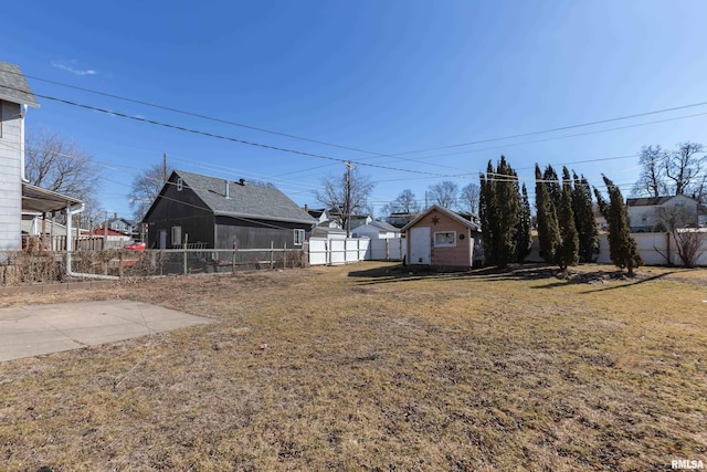
[[[505,268],[517,260],[517,231],[520,213],[518,176],[500,156],[494,169],[488,162],[486,176],[481,177],[479,217],[482,241],[487,262]]]

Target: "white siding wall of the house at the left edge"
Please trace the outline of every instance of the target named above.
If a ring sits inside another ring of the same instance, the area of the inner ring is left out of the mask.
[[[21,143],[20,105],[0,101],[0,251],[22,247]]]

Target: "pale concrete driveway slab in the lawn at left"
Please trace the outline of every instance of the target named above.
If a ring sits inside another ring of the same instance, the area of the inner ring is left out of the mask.
[[[0,308],[0,361],[211,322],[128,300]]]

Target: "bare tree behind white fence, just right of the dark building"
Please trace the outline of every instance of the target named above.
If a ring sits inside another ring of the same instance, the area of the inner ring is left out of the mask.
[[[329,176],[321,183],[324,188],[315,191],[315,198],[348,231],[351,214],[368,209],[368,198],[376,185],[356,168],[349,168],[341,177]]]

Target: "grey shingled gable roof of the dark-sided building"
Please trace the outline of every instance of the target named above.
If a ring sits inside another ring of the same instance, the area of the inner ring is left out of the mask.
[[[169,178],[170,182],[177,177],[181,177],[182,183],[189,187],[217,216],[289,221],[309,227],[317,222],[275,187],[249,183],[244,180],[238,182],[183,170],[172,171]],[[225,195],[226,181],[229,198]],[[162,188],[160,197],[163,195],[165,188]],[[156,202],[152,203],[145,219],[151,213]]]

